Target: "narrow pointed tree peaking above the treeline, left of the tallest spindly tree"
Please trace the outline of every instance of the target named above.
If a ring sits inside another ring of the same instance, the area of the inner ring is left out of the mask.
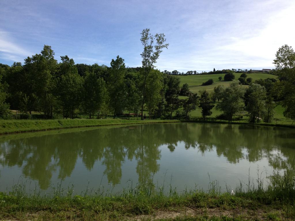
[[[107,81],[109,92],[109,104],[116,114],[124,109],[124,102],[126,98],[124,77],[126,74],[124,59],[117,56],[116,60],[112,59],[111,67],[108,69],[109,77]]]

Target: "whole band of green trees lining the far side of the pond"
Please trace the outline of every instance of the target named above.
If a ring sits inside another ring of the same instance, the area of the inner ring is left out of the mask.
[[[191,93],[189,85],[180,87],[180,78],[155,69],[160,53],[168,48],[164,34],[141,33],[143,45],[142,67],[125,67],[119,55],[105,65],[75,64],[67,55],[57,62],[54,51],[48,45],[40,54],[27,57],[22,65],[0,64],[0,117],[9,118],[9,109],[17,110],[20,116],[30,118],[32,111],[39,111],[43,118],[76,118],[87,114],[89,118],[116,118],[125,113],[144,118],[189,118],[189,113],[201,108],[204,120],[212,115],[212,108],[222,114],[218,119],[228,121],[239,118],[245,110],[251,122],[271,122],[276,104],[285,107],[284,115],[295,120],[294,85],[295,53],[284,45],[276,53],[274,64],[278,80],[268,78],[252,82],[246,71],[234,80],[232,70],[224,71],[224,80],[233,80],[229,87],[214,88]],[[213,71],[218,72],[218,71]],[[221,78],[219,78],[221,80]],[[211,84],[208,82],[207,84]],[[249,88],[242,87],[249,85]],[[186,96],[180,99],[179,95]],[[293,105],[293,106],[292,106]],[[7,117],[8,116],[8,117]]]

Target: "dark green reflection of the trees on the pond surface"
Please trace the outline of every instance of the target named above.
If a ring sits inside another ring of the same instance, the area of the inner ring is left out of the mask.
[[[54,174],[58,179],[71,177],[79,169],[77,162],[81,159],[88,171],[98,162],[108,182],[117,185],[126,161],[136,161],[137,178],[141,182],[160,170],[163,146],[175,154],[184,143],[184,152],[195,149],[203,156],[216,152],[216,157],[225,157],[230,164],[267,158],[272,167],[294,169],[294,135],[294,129],[290,128],[204,123],[25,133],[0,136],[0,165],[7,170],[13,166],[21,168],[22,175],[37,180],[41,189],[47,189]]]

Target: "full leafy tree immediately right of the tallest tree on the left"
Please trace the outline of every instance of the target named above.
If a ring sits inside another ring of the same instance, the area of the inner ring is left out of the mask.
[[[57,80],[56,95],[63,112],[63,118],[74,118],[75,111],[81,104],[83,96],[83,77],[78,74],[74,60],[60,56],[60,77]]]

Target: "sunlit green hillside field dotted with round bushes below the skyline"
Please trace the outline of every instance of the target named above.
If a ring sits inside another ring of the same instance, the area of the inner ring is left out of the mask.
[[[241,73],[234,73],[235,80],[237,80]],[[190,91],[193,93],[199,93],[199,90],[206,89],[209,93],[213,91],[214,87],[217,87],[218,85],[224,85],[224,87],[227,87],[230,85],[231,81],[224,81],[218,80],[218,77],[224,77],[224,74],[214,74],[214,75],[187,75],[187,76],[179,76],[180,78],[180,85],[187,83],[189,84]],[[248,77],[252,77],[252,81],[258,80],[260,78],[266,79],[266,78],[277,78],[276,75],[270,75],[266,73],[247,73]],[[207,86],[201,86],[203,82],[206,82],[209,79],[213,79],[214,83],[212,85]],[[243,85],[243,87],[248,87],[248,85]]]

